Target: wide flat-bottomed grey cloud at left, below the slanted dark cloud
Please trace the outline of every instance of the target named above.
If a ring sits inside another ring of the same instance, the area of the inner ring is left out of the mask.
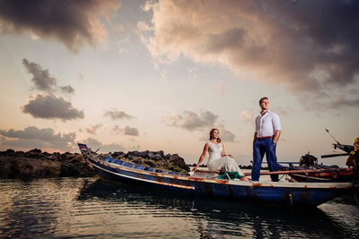
[[[22,106],[22,112],[35,118],[74,120],[83,118],[83,111],[77,110],[64,98],[57,98],[52,94],[37,95],[31,98],[28,104]]]

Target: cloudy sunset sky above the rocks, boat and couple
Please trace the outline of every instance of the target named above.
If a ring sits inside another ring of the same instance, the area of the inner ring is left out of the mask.
[[[0,150],[163,150],[212,128],[250,165],[258,99],[278,161],[344,166],[359,137],[358,1],[0,0]],[[336,151],[339,152],[339,151]]]

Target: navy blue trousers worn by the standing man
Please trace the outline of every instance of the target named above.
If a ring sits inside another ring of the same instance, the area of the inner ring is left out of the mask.
[[[267,164],[270,172],[278,171],[278,164],[276,162],[276,145],[273,139],[265,139],[253,142],[253,167],[252,167],[252,181],[259,181],[260,166],[266,154]],[[278,182],[278,175],[270,175],[273,182]]]

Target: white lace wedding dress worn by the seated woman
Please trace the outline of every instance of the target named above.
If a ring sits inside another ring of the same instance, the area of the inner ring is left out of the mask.
[[[208,141],[208,163],[207,167],[210,171],[220,171],[223,172],[238,172],[239,175],[244,176],[241,172],[241,168],[237,165],[234,158],[229,156],[221,157],[223,151],[223,144],[215,144],[211,141]]]

